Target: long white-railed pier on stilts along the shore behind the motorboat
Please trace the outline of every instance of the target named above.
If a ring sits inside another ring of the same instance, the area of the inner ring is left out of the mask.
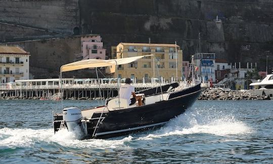
[[[133,83],[132,85],[135,91],[140,91],[159,86],[159,83]],[[54,99],[61,97],[61,89],[64,99],[100,96],[109,98],[117,96],[117,87],[117,81],[109,78],[63,78],[62,85],[59,78],[16,80],[0,86],[0,98],[13,96],[21,99],[32,97]]]

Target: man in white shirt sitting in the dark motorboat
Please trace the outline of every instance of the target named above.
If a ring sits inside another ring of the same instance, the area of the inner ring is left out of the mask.
[[[119,89],[119,97],[122,99],[126,99],[129,102],[129,105],[134,104],[136,101],[139,102],[139,106],[142,106],[142,97],[136,96],[134,93],[134,87],[130,84],[132,83],[130,78],[125,79],[125,85],[121,86]],[[130,99],[130,96],[133,96],[133,98]]]

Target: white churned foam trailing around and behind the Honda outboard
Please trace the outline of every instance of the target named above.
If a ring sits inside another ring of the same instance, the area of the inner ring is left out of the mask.
[[[0,129],[0,146],[7,147],[32,147],[39,142],[47,142],[55,145],[55,143],[70,148],[129,148],[125,145],[130,142],[133,137],[125,137],[120,140],[102,140],[90,139],[79,140],[81,135],[76,129],[73,132],[68,132],[66,129],[60,130],[54,134],[53,129]]]

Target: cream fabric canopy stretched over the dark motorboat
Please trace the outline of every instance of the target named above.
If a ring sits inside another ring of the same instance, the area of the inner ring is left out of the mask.
[[[107,67],[107,66],[113,66],[113,65],[122,65],[122,64],[131,63],[135,60],[139,60],[145,56],[153,56],[153,55],[135,56],[135,57],[129,57],[129,58],[110,59],[110,60],[102,60],[102,59],[81,60],[81,61],[62,65],[60,68],[60,71],[67,72],[67,71],[85,69],[85,68],[96,68],[96,67]]]

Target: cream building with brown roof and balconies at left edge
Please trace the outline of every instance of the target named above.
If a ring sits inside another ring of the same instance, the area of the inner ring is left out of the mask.
[[[18,46],[0,46],[0,83],[29,79],[29,56]]]

